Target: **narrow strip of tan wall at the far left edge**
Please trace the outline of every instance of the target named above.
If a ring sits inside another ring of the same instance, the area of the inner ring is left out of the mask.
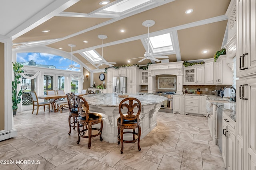
[[[4,80],[4,43],[0,43],[0,79]],[[0,82],[0,89],[4,89],[4,81]],[[4,95],[0,97],[0,131],[1,130],[4,130]]]

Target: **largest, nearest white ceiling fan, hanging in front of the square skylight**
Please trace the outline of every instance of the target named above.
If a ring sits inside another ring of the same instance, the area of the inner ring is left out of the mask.
[[[146,59],[150,59],[150,60],[154,60],[159,62],[160,60],[156,59],[156,58],[163,58],[163,59],[168,59],[169,57],[166,55],[153,55],[152,53],[149,52],[149,27],[153,26],[155,24],[155,21],[153,20],[146,20],[142,23],[143,26],[148,27],[148,52],[145,52],[144,57],[138,57],[138,58],[133,58],[133,59],[141,59],[140,61],[138,61],[138,63],[146,60]],[[132,60],[132,59],[130,59]]]

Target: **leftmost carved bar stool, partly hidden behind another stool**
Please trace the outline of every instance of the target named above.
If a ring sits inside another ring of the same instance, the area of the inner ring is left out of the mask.
[[[67,93],[67,100],[68,100],[68,108],[69,108],[69,116],[68,116],[68,125],[69,125],[69,132],[68,135],[71,133],[71,127],[75,130],[76,123],[78,121],[78,109],[76,105],[76,98],[73,94]],[[71,117],[73,117],[73,122],[71,122]],[[83,127],[82,125],[80,127]]]

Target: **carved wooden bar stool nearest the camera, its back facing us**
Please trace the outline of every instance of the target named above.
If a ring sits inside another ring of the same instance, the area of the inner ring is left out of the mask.
[[[128,101],[128,102],[127,102]],[[126,107],[126,108],[124,108]],[[134,108],[136,108],[136,111],[134,113]],[[140,111],[141,111],[141,103],[140,100],[136,98],[125,98],[122,100],[118,107],[120,117],[117,119],[117,130],[118,130],[118,145],[122,144],[121,147],[121,154],[124,151],[124,143],[134,143],[138,141],[138,150],[140,151],[140,134],[141,134],[141,127],[140,127]],[[126,111],[127,114],[124,115],[123,111]],[[138,133],[135,132],[135,129],[138,128]],[[133,131],[125,131],[124,129],[133,129]],[[123,134],[130,133],[133,134],[132,140],[124,140]],[[135,135],[138,136],[137,139],[135,139]]]

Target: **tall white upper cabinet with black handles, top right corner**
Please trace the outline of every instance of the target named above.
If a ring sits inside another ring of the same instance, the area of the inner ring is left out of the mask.
[[[256,74],[256,2],[238,0],[236,76]]]

